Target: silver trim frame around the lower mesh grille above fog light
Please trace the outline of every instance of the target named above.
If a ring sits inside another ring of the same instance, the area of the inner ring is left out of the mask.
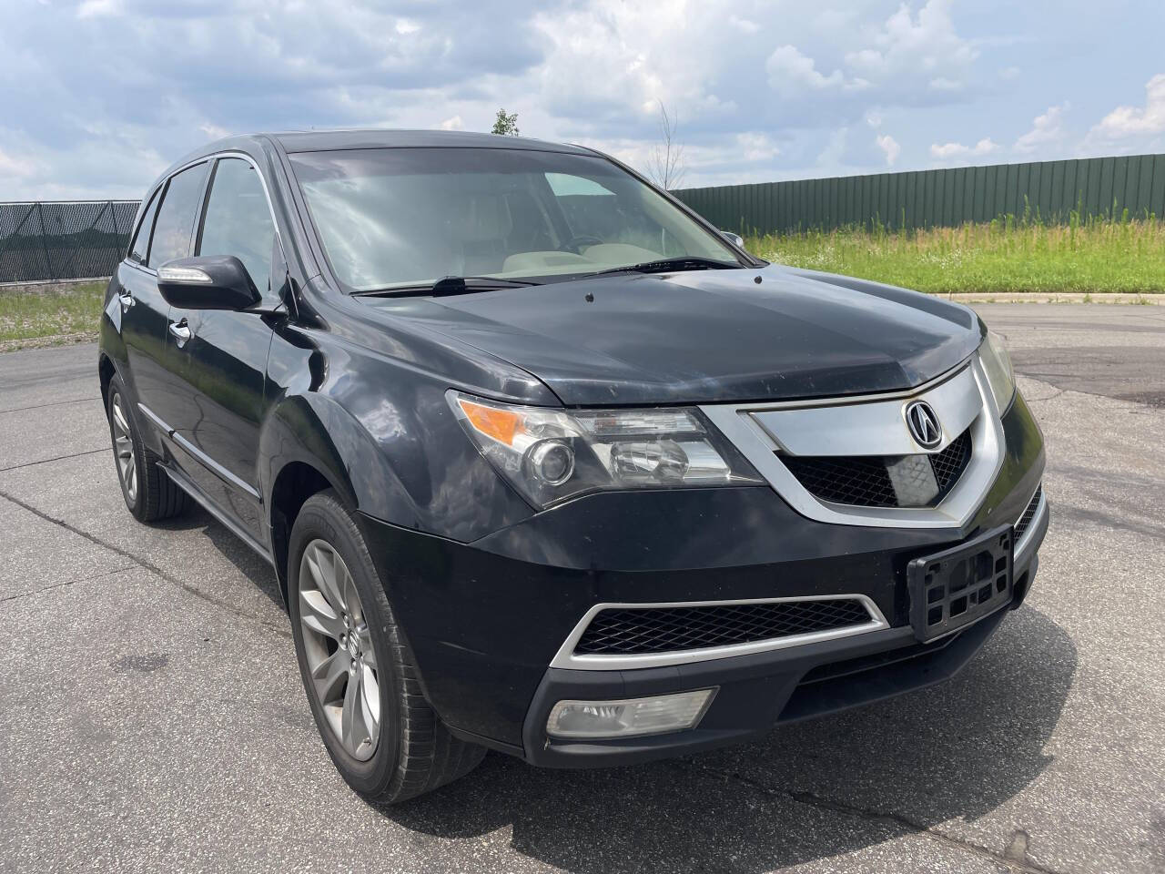
[[[706,647],[704,649],[686,649],[676,653],[650,653],[643,655],[577,655],[574,647],[582,637],[582,633],[595,614],[603,609],[659,609],[666,607],[722,607],[732,604],[784,604],[790,601],[838,601],[856,600],[861,601],[869,613],[870,621],[862,625],[847,626],[845,628],[831,628],[825,632],[810,632],[809,634],[793,634],[788,637],[771,637],[762,641],[750,641],[748,643],[733,643],[725,647]],[[768,653],[775,649],[789,649],[800,647],[806,643],[819,643],[839,637],[852,637],[856,634],[867,634],[889,628],[882,611],[864,594],[814,594],[795,598],[744,598],[727,601],[659,601],[655,604],[596,604],[586,612],[578,625],[570,633],[558,653],[550,662],[551,668],[565,670],[599,670],[619,671],[634,670],[636,668],[662,668],[672,664],[689,664],[691,662],[706,662],[713,658],[732,658],[733,656],[751,655],[753,653]]]

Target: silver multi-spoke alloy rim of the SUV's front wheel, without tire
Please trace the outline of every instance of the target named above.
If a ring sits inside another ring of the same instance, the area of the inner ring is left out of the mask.
[[[311,692],[344,749],[367,761],[380,740],[376,650],[347,565],[318,538],[299,561],[299,626]]]

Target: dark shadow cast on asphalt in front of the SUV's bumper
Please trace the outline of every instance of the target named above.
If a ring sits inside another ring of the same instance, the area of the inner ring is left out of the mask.
[[[580,874],[770,871],[990,813],[1051,761],[1075,667],[1067,634],[1024,607],[948,683],[757,743],[582,771],[489,754],[467,777],[377,810],[439,838],[509,830],[514,850]]]

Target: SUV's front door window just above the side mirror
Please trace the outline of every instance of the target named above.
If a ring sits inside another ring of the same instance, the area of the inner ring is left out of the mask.
[[[199,255],[234,255],[259,291],[268,290],[275,223],[259,171],[248,162],[225,157],[214,168],[198,244]]]

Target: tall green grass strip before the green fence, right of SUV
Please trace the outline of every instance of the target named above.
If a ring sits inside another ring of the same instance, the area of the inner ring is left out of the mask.
[[[1165,226],[1156,216],[1062,225],[1003,217],[989,224],[891,231],[847,227],[748,239],[769,261],[935,294],[1165,291]]]

